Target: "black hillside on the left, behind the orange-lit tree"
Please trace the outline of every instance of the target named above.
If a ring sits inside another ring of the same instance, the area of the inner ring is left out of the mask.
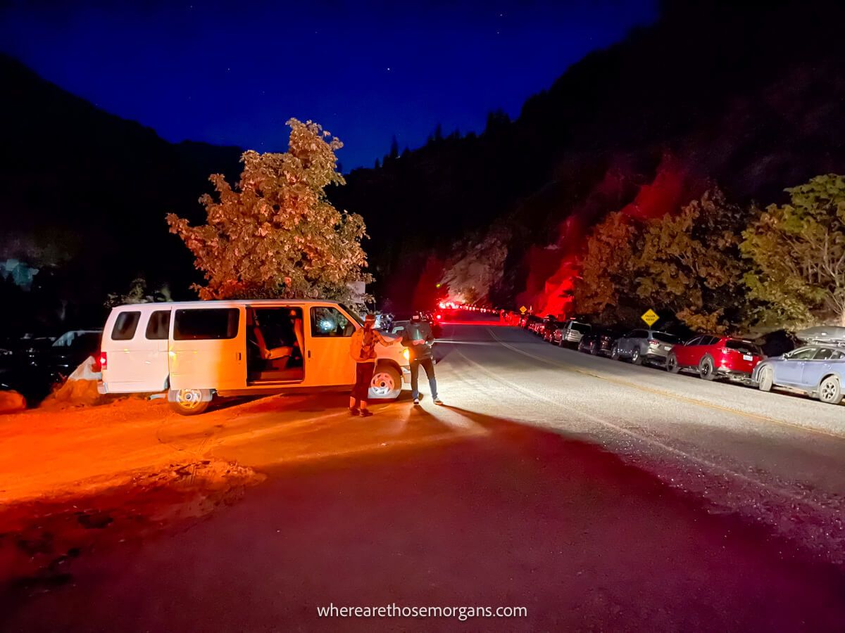
[[[164,215],[200,211],[209,174],[236,173],[241,150],[167,143],[9,57],[0,56],[0,84],[0,259],[61,263],[75,278],[65,284],[72,305],[100,308],[137,274],[184,289],[190,258]]]

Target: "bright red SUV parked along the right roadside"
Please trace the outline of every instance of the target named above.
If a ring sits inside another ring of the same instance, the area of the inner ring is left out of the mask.
[[[762,350],[751,341],[705,335],[674,345],[666,357],[666,370],[673,374],[694,370],[708,381],[718,376],[748,378],[764,358]]]

